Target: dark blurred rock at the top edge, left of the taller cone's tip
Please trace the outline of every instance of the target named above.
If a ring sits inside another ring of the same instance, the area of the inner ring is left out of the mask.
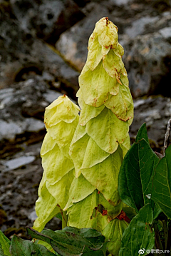
[[[56,43],[63,31],[84,17],[73,0],[11,0],[10,2],[21,28],[48,43]]]

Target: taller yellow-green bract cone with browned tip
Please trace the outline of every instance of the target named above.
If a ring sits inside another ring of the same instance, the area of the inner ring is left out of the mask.
[[[69,152],[76,177],[65,207],[68,225],[103,232],[113,255],[118,255],[128,226],[116,218],[123,208],[118,174],[130,148],[128,131],[133,121],[122,56],[117,27],[108,18],[100,19],[88,41],[88,58],[79,77],[81,116]]]

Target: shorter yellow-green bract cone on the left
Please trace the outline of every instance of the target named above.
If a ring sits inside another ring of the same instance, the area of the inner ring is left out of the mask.
[[[75,176],[73,161],[68,155],[78,125],[80,109],[67,96],[60,96],[46,108],[46,136],[41,147],[43,178],[36,201],[37,219],[33,228],[39,232],[63,210]]]

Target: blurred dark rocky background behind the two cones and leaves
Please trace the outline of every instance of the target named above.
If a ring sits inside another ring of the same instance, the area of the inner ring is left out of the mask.
[[[171,1],[0,0],[0,228],[32,226],[46,133],[43,113],[65,93],[77,101],[88,38],[103,16],[118,26],[135,102],[133,142],[147,123],[162,153],[171,114]],[[46,227],[57,230],[54,218]]]

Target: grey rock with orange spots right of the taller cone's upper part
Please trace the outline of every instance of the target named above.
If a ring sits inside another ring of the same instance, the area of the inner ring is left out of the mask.
[[[130,91],[134,98],[162,94],[171,96],[170,81],[171,44],[158,32],[122,41],[125,48],[123,62],[128,71]]]

